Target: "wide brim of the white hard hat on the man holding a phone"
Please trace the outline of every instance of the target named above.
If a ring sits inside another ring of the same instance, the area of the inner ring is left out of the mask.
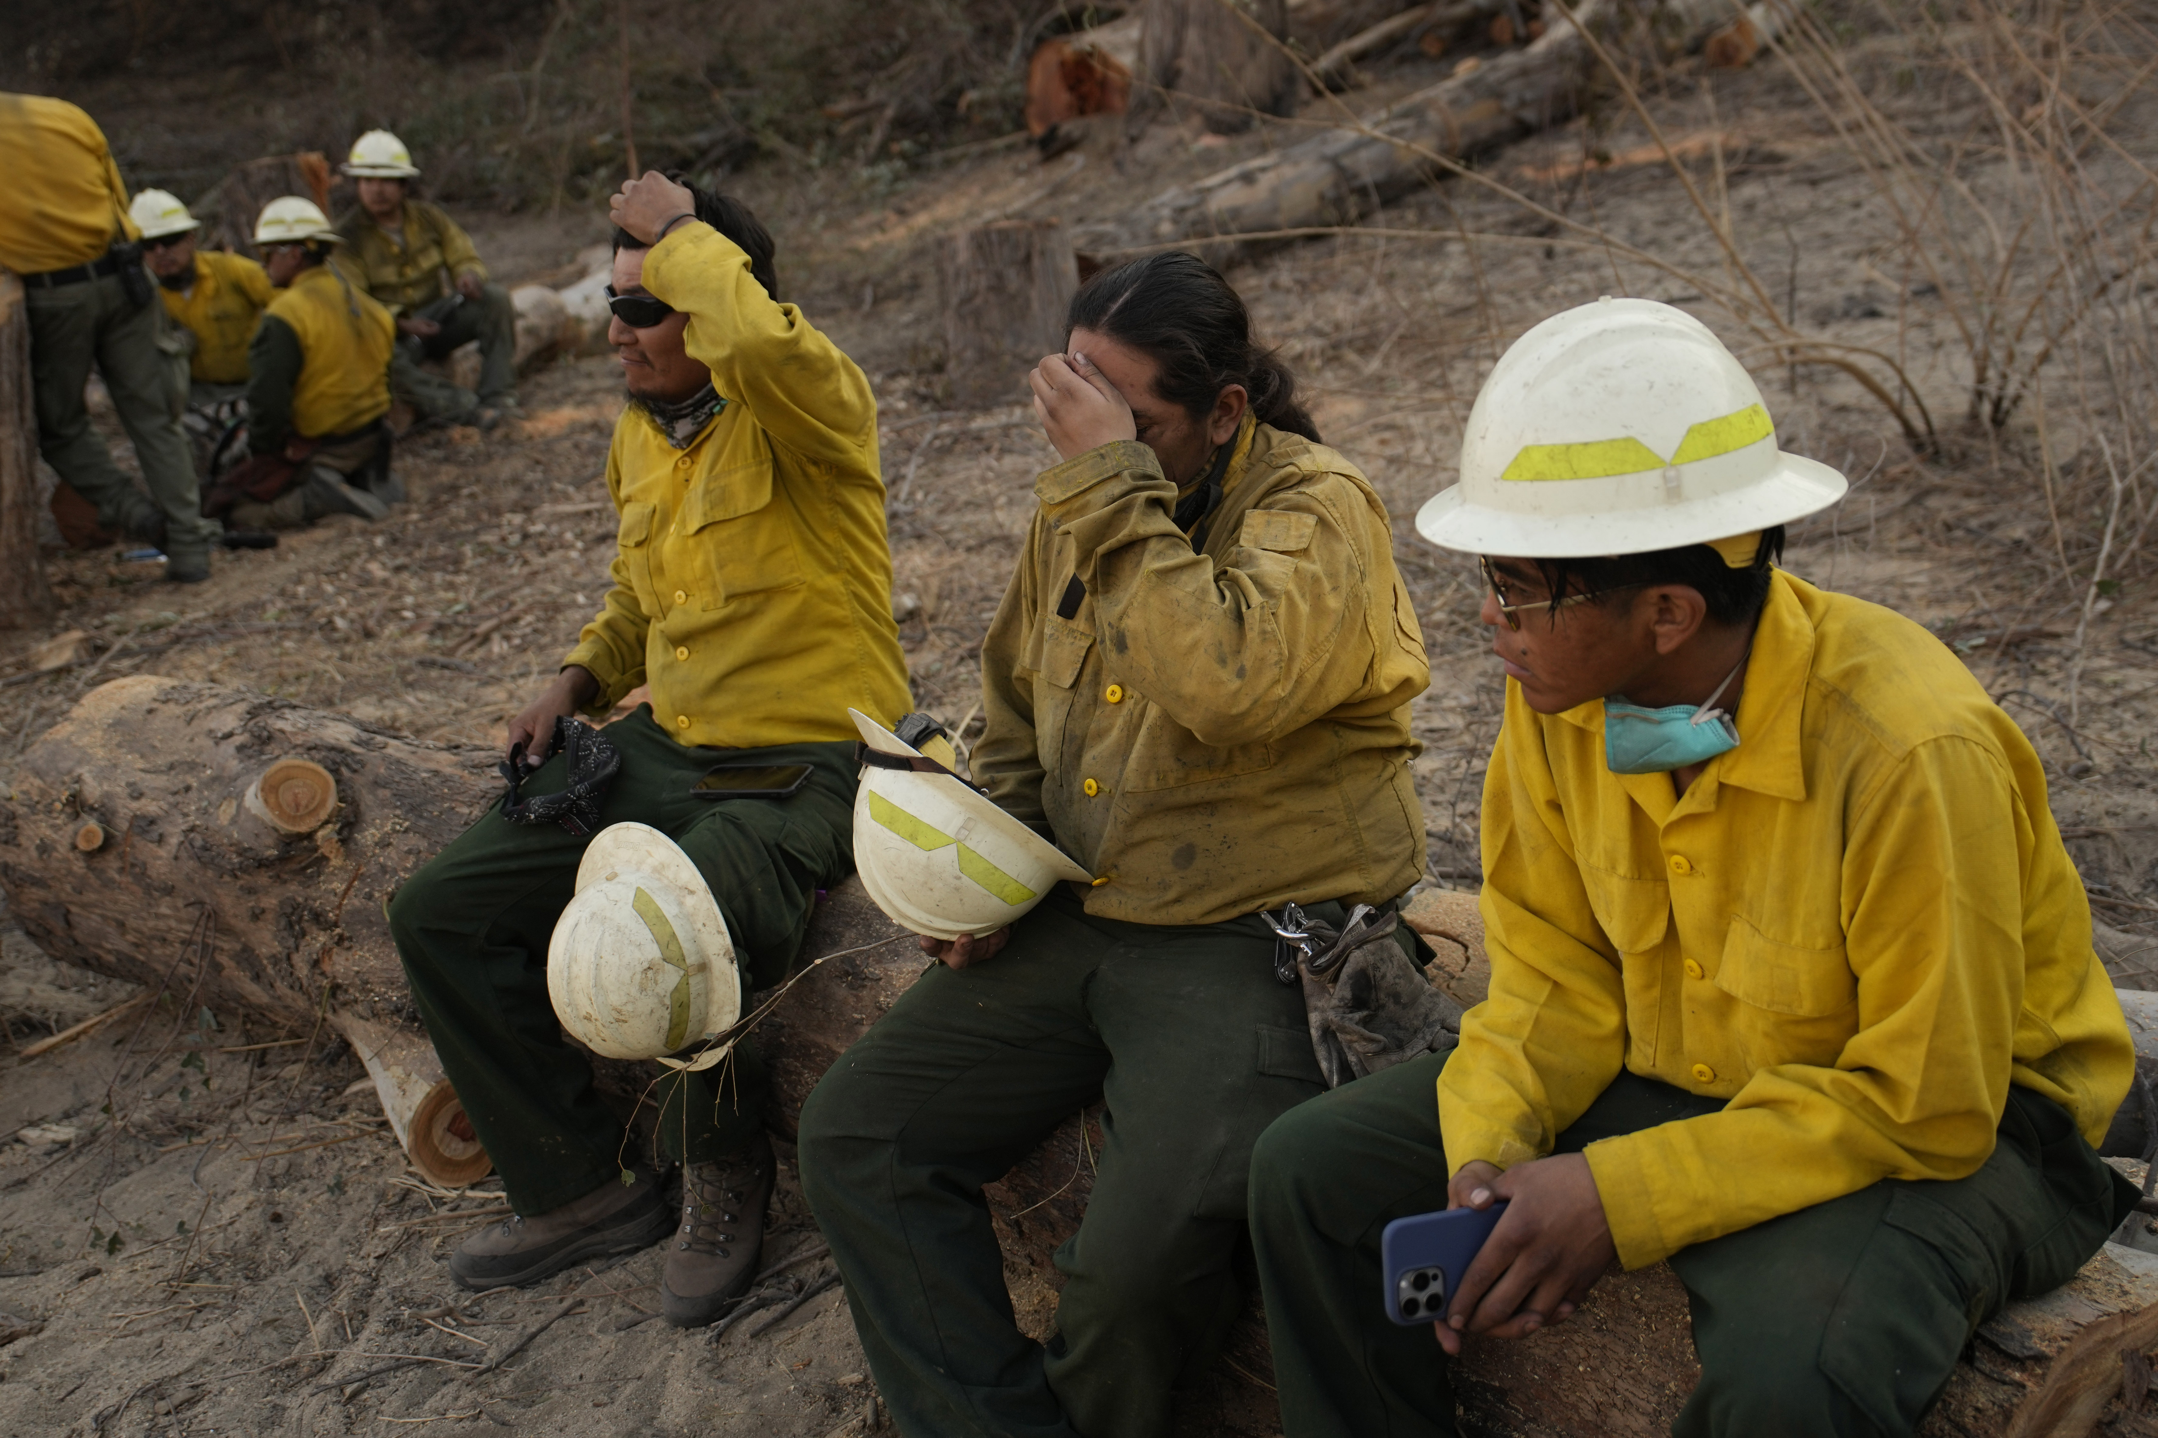
[[[1662,483],[1660,470],[1647,481]],[[1558,481],[1569,483],[1569,481]],[[1571,481],[1590,483],[1590,481]],[[1543,485],[1539,485],[1543,487]],[[1472,504],[1461,485],[1431,496],[1416,511],[1416,533],[1442,550],[1519,558],[1597,558],[1649,554],[1688,543],[1729,539],[1772,524],[1791,524],[1841,500],[1849,481],[1804,455],[1778,455],[1776,468],[1726,494],[1677,500],[1655,509],[1612,513],[1528,513]],[[1558,498],[1556,494],[1552,498]]]

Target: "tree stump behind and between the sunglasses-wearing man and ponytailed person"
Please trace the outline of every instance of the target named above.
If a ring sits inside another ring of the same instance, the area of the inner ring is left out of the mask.
[[[1044,354],[1064,349],[1079,261],[1062,220],[999,220],[945,237],[939,252],[945,377],[960,405],[1010,403]]]

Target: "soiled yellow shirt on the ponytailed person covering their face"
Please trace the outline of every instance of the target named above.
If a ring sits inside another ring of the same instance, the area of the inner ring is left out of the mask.
[[[1385,507],[1323,444],[1249,418],[1234,444],[1196,554],[1144,444],[1047,470],[982,642],[973,778],[1107,880],[1103,918],[1379,903],[1424,869],[1431,666]]]

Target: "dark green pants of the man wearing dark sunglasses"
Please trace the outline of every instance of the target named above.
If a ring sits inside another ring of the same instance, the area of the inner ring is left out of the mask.
[[[742,996],[786,977],[816,890],[852,871],[852,744],[691,748],[641,705],[606,727],[622,770],[600,808],[650,824],[697,862],[719,899]],[[788,800],[699,800],[714,763],[807,763]],[[565,787],[561,755],[527,793]],[[559,824],[511,824],[490,808],[391,899],[391,934],[442,1071],[503,1175],[518,1214],[544,1214],[613,1181],[628,1158],[622,1123],[591,1084],[585,1052],[561,1037],[546,994],[546,946],[570,903],[587,839]],[[684,1162],[710,1162],[764,1125],[766,1071],[749,1043],[701,1074],[654,1065],[660,1136]]]

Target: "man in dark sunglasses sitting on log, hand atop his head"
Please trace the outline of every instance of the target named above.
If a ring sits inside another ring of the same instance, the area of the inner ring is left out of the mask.
[[[622,768],[593,832],[663,830],[710,884],[742,990],[801,953],[818,888],[852,871],[855,724],[909,709],[891,621],[876,401],[861,369],[773,291],[773,241],[738,203],[650,172],[615,198],[609,338],[630,407],[606,487],[622,513],[615,586],[561,675],[509,724],[511,759],[544,759],[557,720],[652,703],[609,724]],[[807,765],[783,800],[704,800],[719,763]],[[563,793],[555,755],[520,785]],[[673,1218],[652,1171],[561,1037],[546,955],[587,839],[490,813],[391,903],[421,1020],[516,1218],[449,1261],[473,1289],[537,1283],[658,1240]],[[658,1132],[686,1164],[660,1298],[706,1324],[757,1272],[773,1147],[766,1069],[669,1071]]]

